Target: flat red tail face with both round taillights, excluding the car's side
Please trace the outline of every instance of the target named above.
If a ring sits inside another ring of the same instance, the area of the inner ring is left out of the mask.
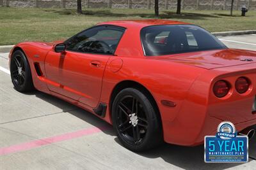
[[[208,72],[216,76],[209,86],[205,118],[195,143],[202,143],[204,136],[214,135],[223,121],[232,122],[237,132],[256,125],[256,63],[220,67]]]

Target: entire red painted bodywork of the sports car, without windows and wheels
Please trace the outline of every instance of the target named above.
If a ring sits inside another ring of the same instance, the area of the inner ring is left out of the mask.
[[[143,27],[186,23],[130,20],[101,24],[126,28],[115,55],[56,53],[54,43],[27,42],[15,46],[14,49],[22,48],[28,57],[36,89],[92,113],[100,102],[106,103],[108,110],[102,119],[111,124],[109,103],[113,90],[122,81],[136,81],[157,103],[164,141],[177,145],[202,143],[204,136],[214,134],[224,120],[233,122],[237,131],[256,124],[256,114],[252,113],[256,95],[256,52],[225,49],[145,57],[140,40]],[[245,58],[253,61],[241,61]],[[99,67],[92,62],[97,62]],[[35,63],[40,65],[42,76],[36,74]],[[234,88],[240,76],[251,81],[250,90],[245,94],[238,94]],[[218,80],[226,80],[231,85],[228,95],[221,99],[212,92]],[[172,101],[177,106],[164,106],[162,100]]]

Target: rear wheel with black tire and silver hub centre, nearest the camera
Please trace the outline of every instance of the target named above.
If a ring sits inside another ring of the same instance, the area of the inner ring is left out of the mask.
[[[127,88],[120,91],[113,101],[112,120],[118,139],[129,150],[149,150],[163,141],[156,106],[143,90]]]

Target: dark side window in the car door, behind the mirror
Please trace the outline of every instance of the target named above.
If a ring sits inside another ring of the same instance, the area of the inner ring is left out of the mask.
[[[68,39],[67,50],[84,53],[113,54],[124,29],[116,27],[94,27]]]

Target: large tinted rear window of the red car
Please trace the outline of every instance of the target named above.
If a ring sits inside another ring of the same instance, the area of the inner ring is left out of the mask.
[[[196,25],[154,25],[141,30],[145,55],[169,55],[227,48],[219,39]]]

